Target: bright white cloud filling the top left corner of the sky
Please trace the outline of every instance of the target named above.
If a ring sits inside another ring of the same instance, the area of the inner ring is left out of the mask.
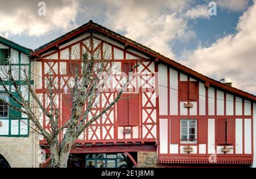
[[[46,2],[46,16],[38,15],[38,1],[1,2],[0,33],[42,36],[57,29],[65,31],[76,26],[75,18],[79,11],[77,1],[44,2]]]

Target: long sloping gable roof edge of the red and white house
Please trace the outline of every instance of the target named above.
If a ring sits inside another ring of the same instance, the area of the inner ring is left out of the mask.
[[[131,40],[125,36],[122,36],[106,27],[103,27],[102,25],[94,23],[92,20],[90,20],[88,23],[81,25],[80,27],[74,29],[73,31],[65,33],[65,35],[60,36],[57,39],[52,40],[52,41],[48,42],[47,44],[44,44],[44,45],[40,46],[39,48],[35,49],[35,55],[40,56],[40,54],[47,52],[47,50],[49,50],[51,48],[55,48],[55,46],[61,44],[61,42],[64,43],[68,39],[78,36],[82,32],[85,32],[88,29],[93,29],[98,32],[101,32],[102,35],[108,36],[111,39],[114,39],[116,41],[123,43],[124,45],[128,45],[129,48],[139,50],[139,52],[143,52],[143,53],[147,54],[152,59],[155,58],[155,61],[167,63],[168,65],[174,67],[175,69],[183,71],[185,74],[188,74],[188,75],[193,76],[194,78],[200,79],[201,81],[205,82],[206,84],[210,84],[210,86],[221,88],[222,90],[234,93],[241,97],[245,97],[246,99],[251,100],[251,101],[256,101],[256,96],[253,94],[239,90],[234,87],[226,86],[225,84],[218,82],[217,80],[209,78],[203,74],[198,73],[195,70],[192,70],[184,65],[181,65],[180,63],[178,63],[170,58],[163,56],[162,54],[156,52],[155,50],[148,48],[147,46],[139,44],[138,42]]]

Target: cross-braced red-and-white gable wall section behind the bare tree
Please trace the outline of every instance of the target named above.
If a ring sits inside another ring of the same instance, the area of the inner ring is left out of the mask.
[[[121,70],[123,70],[123,65],[127,64],[134,65],[139,60],[142,61],[141,65],[135,69],[133,74],[134,83],[130,83],[125,94],[133,94],[134,97],[126,100],[130,105],[130,118],[135,117],[130,120],[127,125],[119,125],[117,122],[117,110],[118,104],[114,105],[109,109],[109,112],[105,116],[101,117],[99,120],[95,121],[90,125],[84,133],[76,140],[77,143],[92,143],[92,144],[117,144],[117,143],[155,143],[156,141],[156,99],[155,95],[155,71],[154,71],[154,62],[151,59],[146,59],[144,57],[138,56],[133,52],[122,49],[117,45],[114,45],[108,41],[100,39],[100,37],[89,35],[80,40],[77,40],[73,43],[61,47],[58,46],[57,49],[53,50],[51,53],[41,54],[40,58],[37,59],[38,62],[42,64],[42,88],[36,90],[37,93],[42,93],[43,96],[43,105],[49,109],[49,104],[47,103],[47,86],[45,80],[49,77],[53,77],[56,86],[54,86],[55,99],[59,101],[59,106],[56,108],[61,109],[60,115],[60,125],[63,125],[64,122],[71,114],[71,104],[64,104],[68,95],[65,94],[65,87],[69,84],[69,80],[73,78],[72,74],[69,71],[61,71],[64,67],[69,67],[71,63],[81,63],[82,53],[80,53],[80,58],[72,59],[72,48],[73,46],[79,46],[80,52],[89,52],[90,54],[95,53],[97,50],[102,50],[106,45],[109,46],[111,50],[110,56],[110,68],[112,66],[119,65]],[[63,52],[66,50],[68,52],[68,57],[63,56]],[[116,58],[114,56],[115,50],[121,52],[122,58]],[[101,57],[103,58],[103,53],[101,52]],[[51,73],[49,73],[51,71]],[[121,86],[121,74],[114,73],[114,70],[110,70],[110,74],[113,76],[110,84],[109,90],[104,91],[99,96],[98,105],[94,106],[90,110],[89,116],[94,116],[104,109],[108,104],[111,103],[117,92],[122,87]],[[115,92],[113,92],[115,91]],[[137,95],[136,95],[137,94]],[[125,101],[125,100],[121,100]],[[137,104],[138,103],[138,104]],[[138,106],[139,105],[139,106]],[[136,107],[136,108],[135,108]],[[69,109],[69,110],[68,110]],[[135,111],[136,110],[136,111]],[[136,113],[135,113],[136,112]],[[89,119],[87,119],[89,120]],[[46,116],[43,115],[43,124],[44,128],[51,131],[50,123],[46,119]],[[130,129],[131,133],[123,133],[123,130]],[[63,133],[60,135],[60,139],[63,138]],[[45,140],[42,140],[40,143],[46,143]]]

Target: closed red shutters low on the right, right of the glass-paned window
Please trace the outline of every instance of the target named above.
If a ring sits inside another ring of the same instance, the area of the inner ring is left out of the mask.
[[[233,144],[235,136],[234,119],[216,120],[216,142],[217,144]]]

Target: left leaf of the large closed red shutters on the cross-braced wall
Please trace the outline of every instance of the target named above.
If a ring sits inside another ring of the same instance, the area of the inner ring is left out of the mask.
[[[127,98],[126,94],[121,95],[121,100],[117,101],[117,122],[118,126],[128,125],[128,100],[122,98]]]

